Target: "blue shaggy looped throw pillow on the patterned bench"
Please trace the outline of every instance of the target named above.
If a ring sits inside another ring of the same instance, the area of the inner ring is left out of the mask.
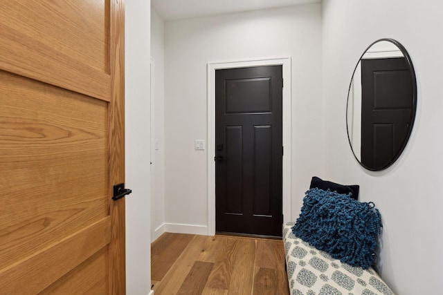
[[[348,195],[310,189],[293,233],[333,258],[368,269],[374,262],[381,215],[373,202],[359,202]]]

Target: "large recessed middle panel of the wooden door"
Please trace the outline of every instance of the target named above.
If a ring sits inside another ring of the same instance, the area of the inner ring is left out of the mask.
[[[0,92],[1,269],[107,216],[108,110],[3,71]]]

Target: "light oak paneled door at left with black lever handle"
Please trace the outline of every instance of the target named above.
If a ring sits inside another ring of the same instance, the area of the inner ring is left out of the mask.
[[[124,294],[124,4],[0,6],[0,294]]]

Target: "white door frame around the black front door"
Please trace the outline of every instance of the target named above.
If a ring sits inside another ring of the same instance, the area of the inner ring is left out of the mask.
[[[278,66],[283,68],[283,222],[291,216],[291,57],[251,59],[208,63],[208,235],[215,235],[215,70],[251,66]]]

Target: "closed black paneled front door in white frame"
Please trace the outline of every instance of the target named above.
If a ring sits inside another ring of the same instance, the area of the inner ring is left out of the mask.
[[[282,66],[215,72],[216,231],[282,236]]]

